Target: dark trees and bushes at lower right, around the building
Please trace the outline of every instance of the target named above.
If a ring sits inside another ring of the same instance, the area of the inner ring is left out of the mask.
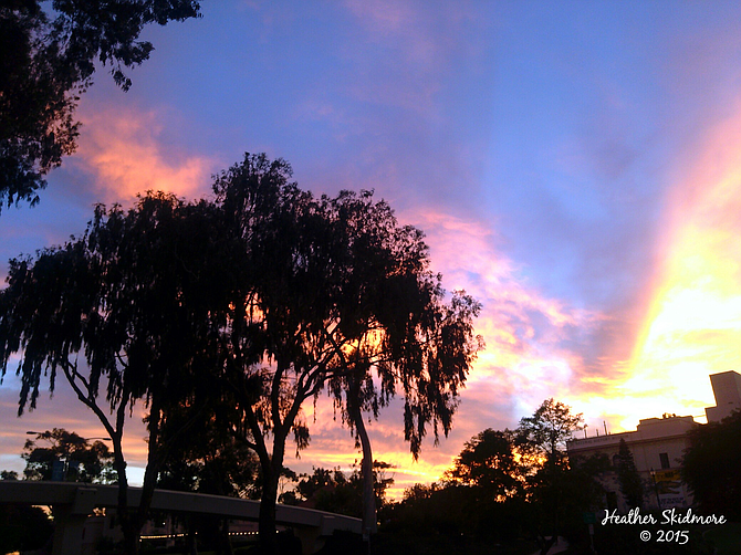
[[[581,415],[562,402],[545,400],[514,430],[487,429],[466,442],[452,467],[432,484],[415,484],[397,503],[387,503],[378,544],[380,552],[406,553],[547,553],[557,536],[567,553],[711,555],[706,528],[693,528],[687,544],[643,542],[648,528],[599,525],[607,509],[606,481],[614,475],[628,507],[647,514],[644,484],[633,453],[622,441],[614,461],[606,454],[570,460],[566,440],[583,428]],[[739,519],[741,412],[721,423],[689,433],[683,480],[701,514]],[[586,515],[595,521],[591,538]],[[657,522],[660,515],[657,514]],[[664,526],[666,531],[666,525]]]

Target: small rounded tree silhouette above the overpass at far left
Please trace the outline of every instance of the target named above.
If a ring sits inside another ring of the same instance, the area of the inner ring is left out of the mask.
[[[39,442],[45,444],[39,444]],[[113,453],[103,441],[93,443],[63,428],[54,428],[27,440],[21,457],[25,460],[27,480],[51,480],[54,462],[64,464],[64,480],[70,482],[109,482]]]

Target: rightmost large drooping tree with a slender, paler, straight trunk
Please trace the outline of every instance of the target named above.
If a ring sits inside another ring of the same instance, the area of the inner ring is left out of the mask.
[[[473,336],[472,325],[480,305],[463,292],[445,302],[440,275],[429,271],[424,233],[400,227],[386,202],[374,201],[367,191],[323,200],[333,226],[346,238],[333,261],[345,274],[337,303],[351,323],[325,327],[328,341],[343,345],[328,385],[363,450],[367,535],[376,527],[376,503],[364,412],[377,418],[399,388],[405,439],[414,458],[419,455],[427,425],[432,425],[436,443],[440,431],[447,436],[458,390],[483,345],[481,337]]]

